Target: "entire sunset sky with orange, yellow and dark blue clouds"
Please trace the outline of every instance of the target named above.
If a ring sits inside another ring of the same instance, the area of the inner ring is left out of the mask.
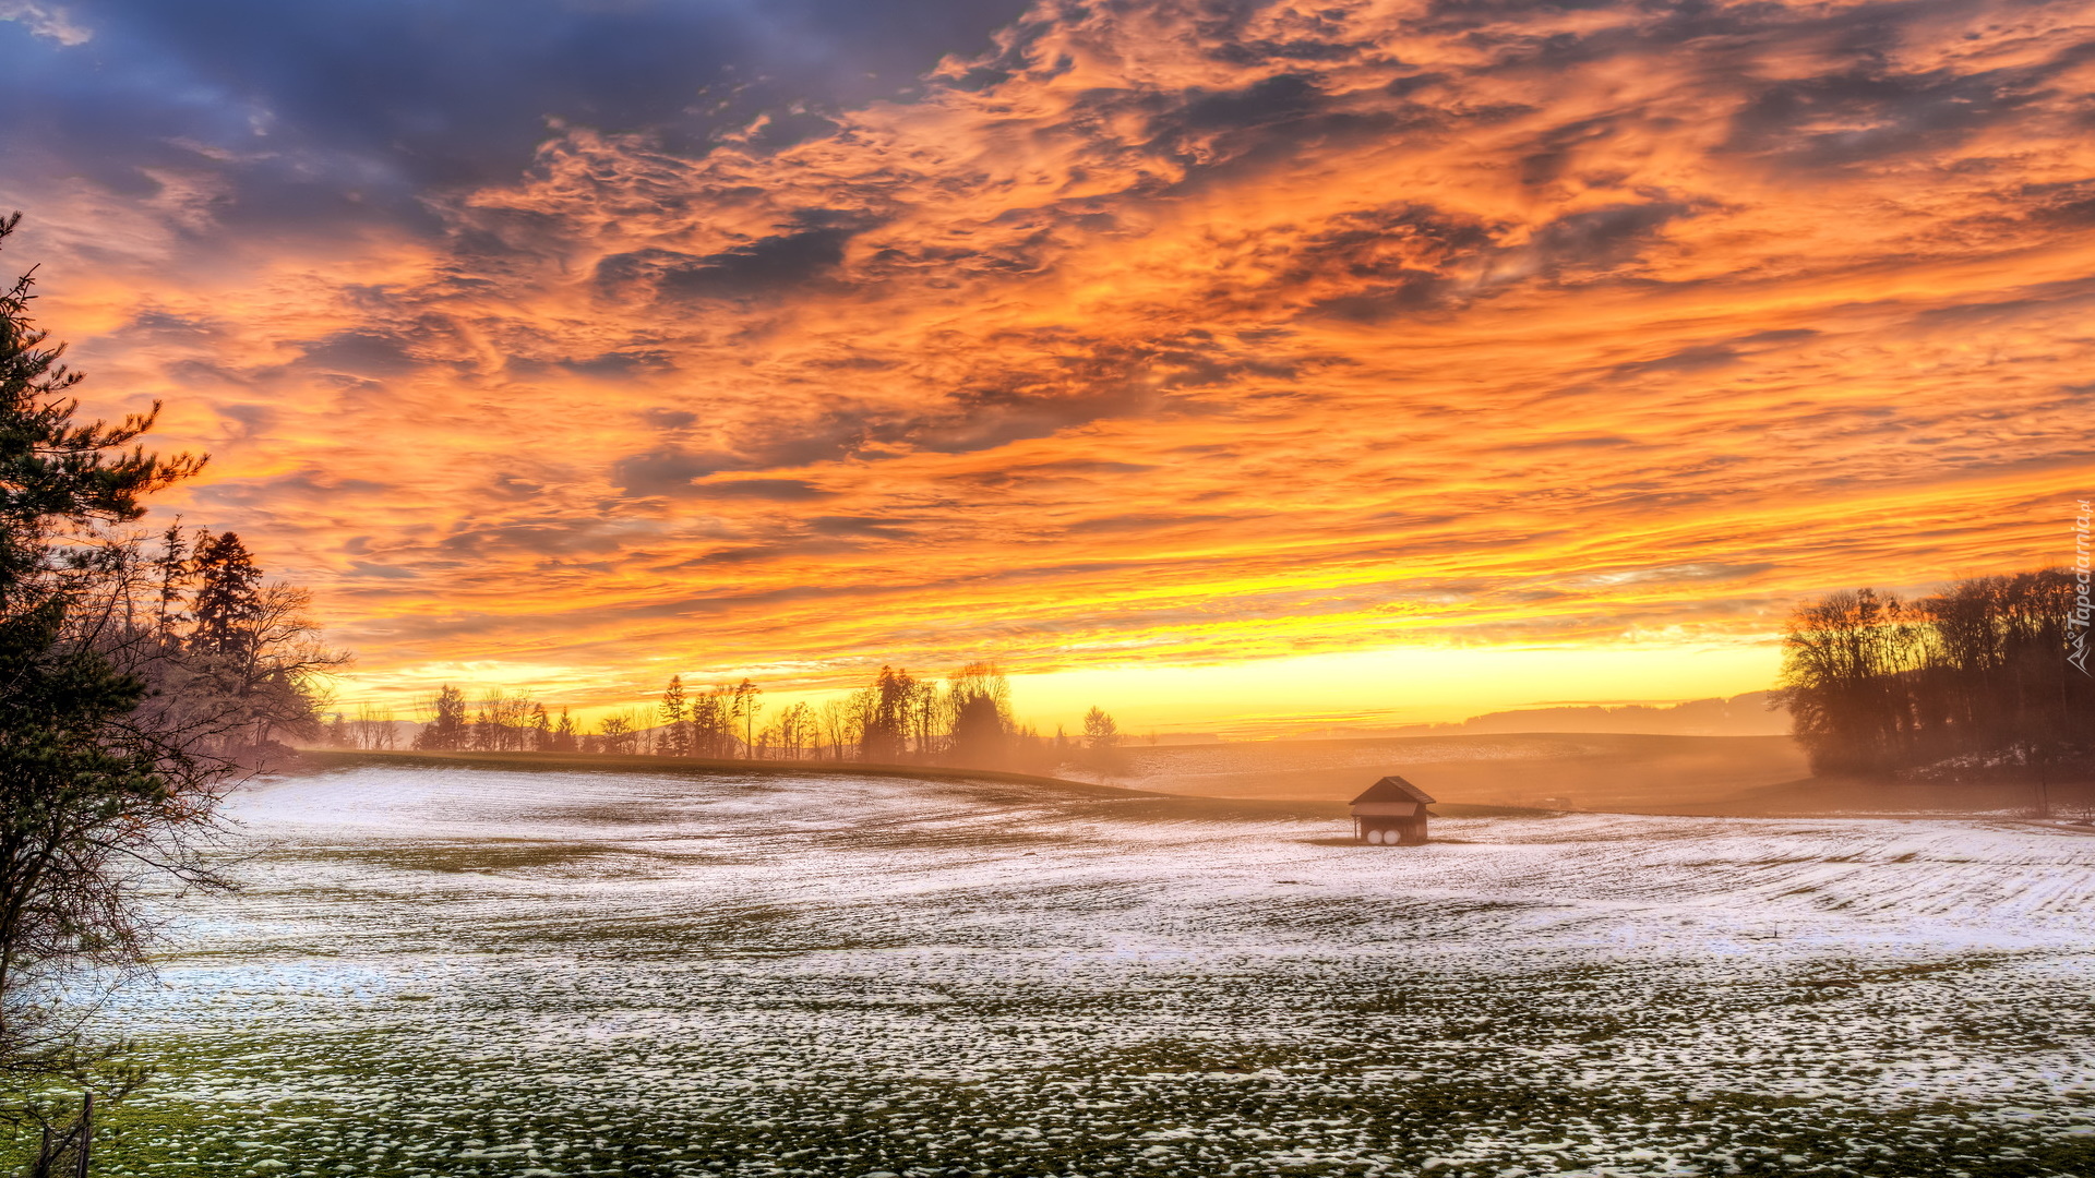
[[[344,700],[1272,734],[2066,562],[2091,94],[2091,2],[0,0],[0,212]]]

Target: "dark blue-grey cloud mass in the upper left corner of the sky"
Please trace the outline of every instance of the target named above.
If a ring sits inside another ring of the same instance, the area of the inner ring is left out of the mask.
[[[84,44],[0,21],[0,157],[147,195],[224,176],[228,222],[415,218],[432,189],[515,176],[549,119],[685,153],[760,138],[978,52],[1020,0],[86,0]]]

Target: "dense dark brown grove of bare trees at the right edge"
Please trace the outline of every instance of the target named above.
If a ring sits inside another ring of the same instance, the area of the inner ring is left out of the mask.
[[[1871,589],[1808,602],[1783,635],[1774,700],[1821,773],[2085,773],[2095,679],[2068,662],[2076,589],[2053,568],[1915,602]]]

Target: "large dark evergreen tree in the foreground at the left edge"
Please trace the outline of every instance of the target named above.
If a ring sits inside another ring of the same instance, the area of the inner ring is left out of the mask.
[[[0,218],[0,241],[19,222]],[[0,293],[0,1071],[17,1075],[65,1046],[52,983],[136,962],[149,870],[210,878],[186,836],[216,801],[207,769],[134,721],[145,683],[96,650],[82,608],[111,568],[101,530],[203,459],[136,444],[159,405],[75,421],[80,373],[29,319],[29,289],[23,275]]]

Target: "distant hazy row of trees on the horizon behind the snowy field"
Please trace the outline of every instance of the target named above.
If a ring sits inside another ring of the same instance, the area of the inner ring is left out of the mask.
[[[605,717],[597,732],[578,732],[566,711],[557,719],[522,694],[484,692],[469,700],[444,685],[423,702],[427,721],[415,748],[476,752],[599,752],[758,761],[867,761],[918,765],[972,765],[985,769],[1050,771],[1079,759],[1115,771],[1119,729],[1091,708],[1085,742],[1062,734],[1043,738],[1012,719],[1010,679],[991,662],[974,662],[943,683],[882,667],[857,692],[819,708],[796,702],[767,708],[763,688],[742,679],[704,690],[670,677],[654,708],[626,708]],[[385,748],[392,717],[377,708],[358,721],[335,717],[335,744]]]

